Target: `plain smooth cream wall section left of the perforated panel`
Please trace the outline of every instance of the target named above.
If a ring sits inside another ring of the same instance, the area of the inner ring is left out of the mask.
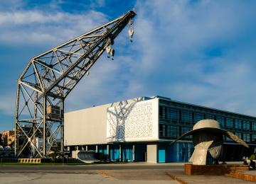
[[[107,144],[107,108],[111,104],[65,113],[65,146]]]

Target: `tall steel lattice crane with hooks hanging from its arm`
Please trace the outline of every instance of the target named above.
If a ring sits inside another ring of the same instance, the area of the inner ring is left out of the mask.
[[[100,55],[114,56],[114,38],[129,24],[128,11],[119,18],[33,57],[18,78],[15,114],[15,155],[47,158],[60,136],[64,148],[64,101]]]

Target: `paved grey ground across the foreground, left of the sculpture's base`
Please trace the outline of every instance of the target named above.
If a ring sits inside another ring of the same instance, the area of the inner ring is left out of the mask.
[[[0,183],[179,183],[174,178],[185,183],[252,183],[226,176],[186,176],[183,164],[0,166]]]

